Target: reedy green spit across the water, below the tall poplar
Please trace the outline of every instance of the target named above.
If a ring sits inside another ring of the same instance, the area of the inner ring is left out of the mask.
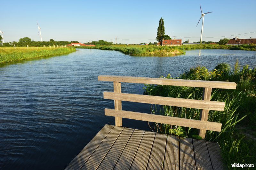
[[[177,48],[170,46],[77,46],[76,48],[93,48],[100,50],[115,50],[124,54],[136,56],[173,56],[184,54],[184,52]]]

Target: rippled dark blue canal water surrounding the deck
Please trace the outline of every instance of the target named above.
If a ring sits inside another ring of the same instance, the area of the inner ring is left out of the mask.
[[[63,169],[114,117],[103,99],[113,82],[97,76],[172,76],[190,67],[220,63],[256,65],[255,51],[191,50],[175,57],[135,57],[116,51],[75,53],[0,65],[0,169]],[[143,93],[143,84],[122,83],[124,93]],[[149,104],[123,102],[123,110],[150,113]],[[123,119],[124,127],[150,130],[147,122]]]

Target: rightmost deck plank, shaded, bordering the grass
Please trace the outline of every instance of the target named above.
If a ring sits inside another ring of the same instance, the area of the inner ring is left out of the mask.
[[[224,169],[221,158],[220,146],[216,142],[205,141],[214,170]]]

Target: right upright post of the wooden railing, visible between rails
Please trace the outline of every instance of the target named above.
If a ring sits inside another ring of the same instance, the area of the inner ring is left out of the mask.
[[[210,101],[212,95],[212,88],[203,88],[203,98],[202,100]],[[209,110],[200,110],[200,120],[201,121],[208,121],[208,113]],[[204,129],[198,129],[198,135],[205,139],[205,132]]]

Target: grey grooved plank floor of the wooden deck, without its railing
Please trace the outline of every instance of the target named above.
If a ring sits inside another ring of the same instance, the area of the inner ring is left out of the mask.
[[[66,169],[223,169],[218,143],[105,125]]]

